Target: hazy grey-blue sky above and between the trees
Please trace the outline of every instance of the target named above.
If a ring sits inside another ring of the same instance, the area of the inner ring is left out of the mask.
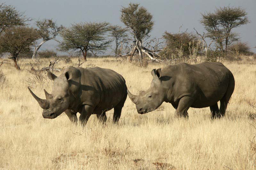
[[[0,0],[1,2],[2,0]],[[111,24],[124,26],[120,21],[120,9],[130,2],[140,3],[153,15],[155,21],[151,37],[160,38],[164,31],[177,33],[188,28],[193,32],[195,27],[202,33],[204,27],[199,23],[200,13],[214,11],[217,7],[241,6],[248,13],[251,23],[234,29],[240,33],[241,41],[248,42],[256,53],[256,0],[6,0],[26,16],[35,19],[52,18],[58,24],[70,26],[81,21],[107,21]],[[55,48],[56,41],[48,41],[41,48]],[[110,51],[110,50],[109,50]],[[108,52],[109,53],[109,52]]]

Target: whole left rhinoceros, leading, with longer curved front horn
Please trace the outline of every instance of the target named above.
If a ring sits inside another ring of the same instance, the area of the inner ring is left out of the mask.
[[[46,99],[40,99],[29,88],[32,96],[43,108],[43,117],[54,119],[65,112],[71,122],[85,124],[92,114],[106,121],[106,111],[114,108],[113,122],[118,122],[127,97],[124,78],[113,70],[93,67],[84,69],[68,66],[57,77],[47,70],[53,80],[52,94],[44,90]]]

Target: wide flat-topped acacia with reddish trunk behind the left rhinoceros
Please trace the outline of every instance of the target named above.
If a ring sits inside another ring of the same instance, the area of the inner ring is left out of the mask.
[[[58,48],[60,51],[79,51],[86,61],[87,52],[102,53],[112,42],[108,40],[106,34],[109,31],[107,22],[85,22],[74,24],[70,28],[64,29],[60,36]]]

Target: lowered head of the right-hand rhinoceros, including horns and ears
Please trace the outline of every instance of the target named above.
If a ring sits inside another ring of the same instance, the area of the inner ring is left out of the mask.
[[[158,108],[164,100],[164,89],[160,77],[162,75],[161,69],[154,69],[151,71],[153,80],[151,86],[146,91],[140,91],[139,95],[133,95],[129,90],[128,96],[133,103],[136,104],[137,112],[145,114]]]

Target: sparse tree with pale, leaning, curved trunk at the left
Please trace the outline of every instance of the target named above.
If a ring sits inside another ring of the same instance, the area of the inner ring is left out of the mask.
[[[39,38],[42,39],[42,41],[37,46],[35,45],[32,59],[36,57],[37,51],[46,41],[54,39],[64,28],[62,25],[58,26],[52,19],[38,20],[36,21],[36,26]]]

